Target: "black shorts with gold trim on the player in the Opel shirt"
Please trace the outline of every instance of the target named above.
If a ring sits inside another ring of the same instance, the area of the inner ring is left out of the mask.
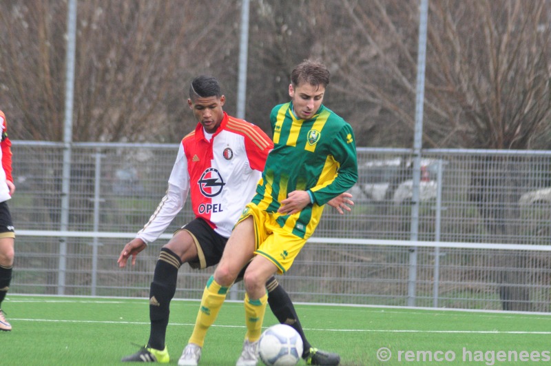
[[[202,270],[217,265],[222,258],[228,238],[216,233],[202,218],[196,218],[180,228],[189,232],[197,247],[197,260],[189,261],[191,268]],[[180,230],[176,231],[179,232]],[[174,234],[176,234],[174,233]]]

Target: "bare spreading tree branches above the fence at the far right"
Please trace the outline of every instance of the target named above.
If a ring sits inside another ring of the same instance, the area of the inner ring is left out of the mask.
[[[363,41],[333,52],[347,54],[341,91],[377,105],[402,134],[415,127],[417,3],[344,0]],[[424,147],[545,143],[537,136],[549,136],[550,12],[545,1],[430,1]]]

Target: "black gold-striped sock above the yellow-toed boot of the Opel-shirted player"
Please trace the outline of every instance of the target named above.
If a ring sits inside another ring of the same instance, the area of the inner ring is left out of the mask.
[[[182,262],[180,257],[167,248],[161,248],[159,259],[155,266],[153,282],[149,287],[149,331],[148,347],[165,349],[170,301],[176,293],[178,269]]]

